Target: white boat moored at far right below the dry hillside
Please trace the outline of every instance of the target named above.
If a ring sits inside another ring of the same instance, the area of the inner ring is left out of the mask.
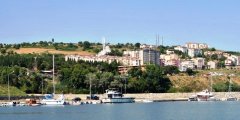
[[[206,89],[197,93],[197,101],[216,101],[216,99],[214,98],[212,92]]]

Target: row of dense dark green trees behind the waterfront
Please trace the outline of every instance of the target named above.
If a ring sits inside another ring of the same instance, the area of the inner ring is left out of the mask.
[[[6,84],[6,75],[11,73],[11,85],[27,93],[52,92],[52,77],[41,70],[52,69],[52,55],[26,54],[0,56],[1,81]],[[95,93],[103,93],[107,88],[127,88],[128,92],[167,92],[171,87],[167,74],[178,73],[176,67],[149,65],[146,70],[133,68],[128,76],[118,74],[119,64],[104,62],[65,61],[62,55],[55,57],[56,86],[58,92],[88,93],[92,82]],[[43,82],[43,83],[42,83]]]

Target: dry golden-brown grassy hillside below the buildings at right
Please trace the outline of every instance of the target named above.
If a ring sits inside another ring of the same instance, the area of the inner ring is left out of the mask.
[[[210,86],[211,77],[207,77],[207,74],[210,72],[212,73],[219,73],[219,75],[212,76],[212,84],[213,88],[218,87],[217,85],[223,85],[229,81],[228,75],[234,74],[231,76],[231,80],[234,84],[240,85],[240,72],[236,70],[205,70],[199,71],[194,76],[188,76],[186,74],[177,74],[173,76],[169,76],[172,84],[173,84],[173,91],[183,91],[183,92],[197,92],[203,89],[207,89]],[[224,86],[221,86],[224,87]],[[223,88],[221,88],[223,89]],[[224,87],[227,89],[227,86]]]

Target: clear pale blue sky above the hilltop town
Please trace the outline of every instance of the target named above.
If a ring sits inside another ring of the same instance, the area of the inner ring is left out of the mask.
[[[0,0],[0,43],[207,43],[240,51],[239,0]]]

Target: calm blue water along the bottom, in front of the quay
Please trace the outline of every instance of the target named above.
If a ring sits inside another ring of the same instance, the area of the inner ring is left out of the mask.
[[[240,102],[0,107],[0,120],[237,120]]]

